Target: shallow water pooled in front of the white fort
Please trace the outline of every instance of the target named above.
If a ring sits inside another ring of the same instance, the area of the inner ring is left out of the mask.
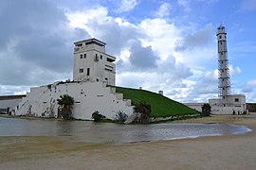
[[[230,124],[119,125],[90,121],[27,120],[0,117],[0,136],[77,136],[89,143],[145,141],[243,134],[245,126]]]

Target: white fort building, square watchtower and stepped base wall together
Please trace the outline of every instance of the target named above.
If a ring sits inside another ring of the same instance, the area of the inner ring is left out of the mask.
[[[131,115],[131,100],[107,86],[115,86],[116,58],[105,53],[105,45],[97,39],[75,42],[73,81],[31,88],[15,114],[61,117],[57,99],[68,94],[74,98],[72,116],[76,119],[91,120],[95,111],[110,119],[115,119],[119,111]]]

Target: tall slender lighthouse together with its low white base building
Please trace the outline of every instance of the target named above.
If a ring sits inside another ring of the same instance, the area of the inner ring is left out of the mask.
[[[225,26],[220,25],[217,30],[218,40],[218,89],[219,97],[210,98],[212,114],[241,114],[247,113],[246,95],[231,94],[229,77],[229,59],[227,49],[227,32]]]

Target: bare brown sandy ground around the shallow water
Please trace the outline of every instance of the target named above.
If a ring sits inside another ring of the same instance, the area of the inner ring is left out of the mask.
[[[256,116],[186,123],[231,123],[253,131],[141,144],[86,144],[75,137],[0,137],[0,169],[255,169]]]

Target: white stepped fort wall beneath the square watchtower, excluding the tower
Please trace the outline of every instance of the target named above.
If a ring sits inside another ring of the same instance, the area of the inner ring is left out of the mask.
[[[19,104],[16,115],[58,117],[57,99],[68,94],[74,98],[73,117],[91,120],[98,110],[102,115],[115,119],[119,111],[128,116],[133,113],[130,100],[124,100],[115,88],[106,87],[102,82],[54,83],[53,85],[31,88],[27,97]]]

